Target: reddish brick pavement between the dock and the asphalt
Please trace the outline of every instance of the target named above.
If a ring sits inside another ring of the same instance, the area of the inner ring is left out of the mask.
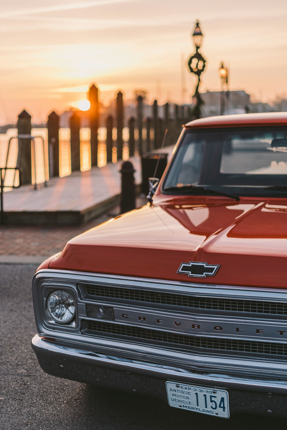
[[[146,203],[139,198],[136,206]],[[0,256],[49,256],[62,251],[72,237],[119,214],[116,207],[104,215],[77,226],[0,226]]]

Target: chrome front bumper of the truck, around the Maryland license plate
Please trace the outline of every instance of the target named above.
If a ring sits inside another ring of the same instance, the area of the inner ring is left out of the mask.
[[[41,368],[50,375],[98,387],[157,397],[167,402],[166,381],[228,390],[231,414],[287,417],[287,381],[188,371],[32,339]]]

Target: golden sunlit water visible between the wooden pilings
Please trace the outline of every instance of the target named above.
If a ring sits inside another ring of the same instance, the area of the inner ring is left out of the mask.
[[[103,167],[107,164],[107,151],[106,151],[106,129],[104,127],[99,128],[99,145],[98,145],[98,166]],[[46,157],[46,172],[47,180],[49,179],[49,168],[48,168],[48,131],[46,128],[43,129],[32,129],[32,136],[42,136],[45,144],[45,157]],[[17,129],[9,129],[5,134],[0,134],[0,166],[6,165],[7,148],[9,138],[17,136]],[[59,129],[59,175],[60,177],[68,176],[71,174],[71,144],[70,144],[70,129],[61,128]],[[113,129],[113,140],[114,145],[116,144],[117,129]],[[129,138],[129,129],[126,127],[123,129],[123,160],[129,158],[129,148],[127,141]],[[36,182],[37,184],[45,181],[44,171],[44,157],[43,157],[43,144],[41,139],[35,139],[36,147]],[[10,144],[9,159],[7,167],[15,167],[18,155],[18,141],[12,139]],[[32,160],[34,154],[32,154]],[[117,162],[117,148],[113,147],[112,162]],[[91,145],[90,145],[90,129],[80,129],[80,169],[82,172],[91,168]],[[6,184],[11,184],[14,173],[7,172]],[[34,178],[34,165],[32,163],[32,178]],[[32,179],[34,183],[34,179]],[[17,181],[15,182],[17,184]]]

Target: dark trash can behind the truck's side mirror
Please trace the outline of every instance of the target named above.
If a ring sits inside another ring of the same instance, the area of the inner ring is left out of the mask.
[[[167,167],[166,153],[146,153],[142,154],[142,193],[148,194],[148,178],[161,178]],[[158,163],[158,164],[157,164]],[[155,172],[155,169],[157,171]]]

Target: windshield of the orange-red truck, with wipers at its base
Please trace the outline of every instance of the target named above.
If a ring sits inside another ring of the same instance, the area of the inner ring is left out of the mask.
[[[194,194],[190,185],[239,195],[287,196],[287,127],[185,132],[163,191]]]

